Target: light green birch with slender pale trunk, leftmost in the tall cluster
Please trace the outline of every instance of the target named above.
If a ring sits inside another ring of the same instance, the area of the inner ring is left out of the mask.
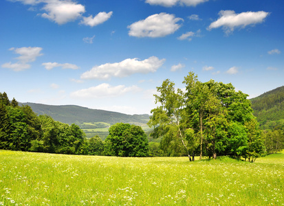
[[[159,103],[162,106],[158,106],[151,111],[153,115],[148,122],[148,125],[153,127],[151,137],[163,137],[161,148],[164,148],[164,152],[167,148],[180,149],[179,144],[182,143],[183,150],[191,161],[184,136],[186,128],[184,128],[181,122],[183,115],[185,115],[184,93],[181,89],[177,89],[177,92],[175,92],[175,84],[168,79],[164,80],[161,87],[157,87],[157,91],[160,95],[154,95],[155,103]],[[176,152],[177,150],[173,151]],[[173,154],[173,152],[170,154]]]

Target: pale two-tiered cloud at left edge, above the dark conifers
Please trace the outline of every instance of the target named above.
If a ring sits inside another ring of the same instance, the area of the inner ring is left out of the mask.
[[[34,62],[38,56],[42,56],[41,47],[20,47],[20,48],[10,48],[9,51],[14,51],[15,54],[20,56],[15,58],[18,60],[16,63],[6,62],[1,67],[12,69],[13,71],[23,71],[25,69],[30,69],[31,65],[28,62]]]

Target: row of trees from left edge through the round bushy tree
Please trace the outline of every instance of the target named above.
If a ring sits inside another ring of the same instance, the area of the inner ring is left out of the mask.
[[[148,157],[149,145],[140,126],[118,123],[109,128],[106,141],[85,138],[76,124],[36,115],[28,105],[19,106],[6,92],[0,93],[0,149],[68,155]]]

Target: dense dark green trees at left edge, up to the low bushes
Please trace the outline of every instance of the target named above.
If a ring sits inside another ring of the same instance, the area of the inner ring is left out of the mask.
[[[87,155],[85,134],[76,124],[37,116],[28,105],[18,106],[0,93],[0,149]]]

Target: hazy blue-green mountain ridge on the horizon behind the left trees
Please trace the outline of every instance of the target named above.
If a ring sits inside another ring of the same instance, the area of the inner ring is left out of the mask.
[[[123,122],[131,124],[146,124],[150,117],[149,115],[126,115],[123,113],[91,109],[75,105],[53,106],[30,102],[22,104],[30,106],[38,115],[50,115],[54,120],[67,124],[76,122],[105,122],[108,124]]]

